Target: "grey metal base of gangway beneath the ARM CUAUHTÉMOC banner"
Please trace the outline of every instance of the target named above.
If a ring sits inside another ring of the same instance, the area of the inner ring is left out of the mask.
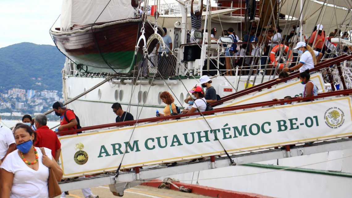
[[[334,150],[351,149],[352,138],[338,138],[329,141],[313,143],[309,147],[295,146],[286,147],[286,150],[272,148],[251,151],[243,154],[233,154],[231,159],[235,164],[230,163],[228,157],[212,156],[204,162],[188,163],[188,161],[177,162],[173,167],[156,166],[153,168],[134,168],[131,171],[121,171],[118,177],[114,172],[107,172],[92,177],[81,178],[76,181],[64,181],[59,184],[62,191],[70,191],[80,188],[109,185],[110,191],[114,195],[123,196],[127,188],[142,184],[159,177],[168,175],[204,171],[214,168],[224,168],[234,165],[244,165],[267,160],[284,159],[287,157],[304,156],[310,154],[323,153]]]

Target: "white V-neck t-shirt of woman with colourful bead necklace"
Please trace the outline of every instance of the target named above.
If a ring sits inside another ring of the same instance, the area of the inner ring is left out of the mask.
[[[39,163],[38,171],[34,171],[24,163],[18,155],[18,149],[8,154],[2,162],[0,168],[14,174],[10,198],[49,198],[49,168],[43,165],[43,154],[40,148],[36,147],[36,149],[39,157],[37,162]],[[50,149],[44,149],[47,155],[51,153]],[[51,159],[51,155],[48,155],[48,157]]]

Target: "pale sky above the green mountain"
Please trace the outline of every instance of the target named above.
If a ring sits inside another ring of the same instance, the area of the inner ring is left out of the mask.
[[[21,42],[54,45],[49,29],[61,4],[62,0],[0,0],[0,48]]]

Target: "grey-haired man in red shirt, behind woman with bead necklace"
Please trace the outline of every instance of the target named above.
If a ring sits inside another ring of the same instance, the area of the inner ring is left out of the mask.
[[[61,143],[55,132],[46,126],[46,122],[47,119],[44,114],[38,114],[34,117],[34,126],[37,129],[37,140],[34,145],[51,149],[51,155],[58,161],[61,153]]]

